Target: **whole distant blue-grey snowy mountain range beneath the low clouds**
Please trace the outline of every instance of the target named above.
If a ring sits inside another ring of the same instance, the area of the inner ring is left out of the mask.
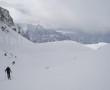
[[[21,35],[32,42],[44,43],[71,40],[83,44],[110,43],[110,32],[85,32],[80,29],[46,29],[42,25],[17,24]]]

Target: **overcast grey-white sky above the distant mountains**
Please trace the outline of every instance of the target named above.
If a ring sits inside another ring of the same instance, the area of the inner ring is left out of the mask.
[[[1,0],[15,22],[47,27],[110,28],[110,0]]]

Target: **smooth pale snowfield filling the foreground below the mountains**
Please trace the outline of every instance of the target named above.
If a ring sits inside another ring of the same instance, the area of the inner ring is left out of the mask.
[[[32,44],[1,30],[0,38],[0,90],[110,90],[110,45],[95,51],[71,41]]]

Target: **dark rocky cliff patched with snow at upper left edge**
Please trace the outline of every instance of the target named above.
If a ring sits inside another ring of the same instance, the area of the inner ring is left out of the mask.
[[[8,25],[9,27],[14,26],[14,22],[9,14],[9,11],[2,7],[0,7],[0,22]]]

